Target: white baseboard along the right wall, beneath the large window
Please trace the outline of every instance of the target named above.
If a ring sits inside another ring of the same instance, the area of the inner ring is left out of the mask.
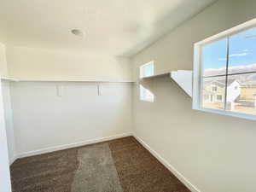
[[[143,145],[144,148],[147,148],[148,151],[154,155],[154,157],[160,161],[166,168],[172,172],[187,188],[189,188],[192,192],[201,192],[199,189],[197,189],[192,183],[189,182],[189,180],[183,176],[180,172],[177,172],[177,170],[167,162],[160,154],[158,154],[156,151],[154,151],[153,148],[151,148],[147,143],[143,141],[140,137],[137,137],[136,135],[133,135],[137,139],[139,143]]]

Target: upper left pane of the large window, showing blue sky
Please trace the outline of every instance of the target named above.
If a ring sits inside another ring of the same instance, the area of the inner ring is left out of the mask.
[[[204,77],[226,73],[227,39],[208,44],[202,48],[202,75]]]

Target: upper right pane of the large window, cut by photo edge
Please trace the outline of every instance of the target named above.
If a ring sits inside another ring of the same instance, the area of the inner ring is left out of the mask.
[[[230,38],[229,73],[256,72],[256,29]]]

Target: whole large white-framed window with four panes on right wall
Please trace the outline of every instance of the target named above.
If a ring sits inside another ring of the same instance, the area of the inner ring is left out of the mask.
[[[193,108],[256,119],[256,20],[195,44]]]

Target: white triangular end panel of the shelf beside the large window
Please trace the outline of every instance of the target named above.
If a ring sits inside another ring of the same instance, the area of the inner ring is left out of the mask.
[[[177,70],[171,73],[171,78],[181,87],[190,97],[192,97],[193,72],[188,70]]]

